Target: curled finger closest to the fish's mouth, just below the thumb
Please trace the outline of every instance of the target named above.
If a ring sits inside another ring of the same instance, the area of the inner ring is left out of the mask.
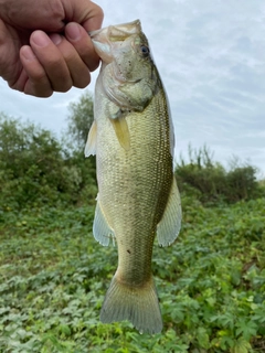
[[[65,26],[65,36],[75,47],[89,71],[96,69],[99,64],[99,57],[86,30],[82,25],[71,22]]]

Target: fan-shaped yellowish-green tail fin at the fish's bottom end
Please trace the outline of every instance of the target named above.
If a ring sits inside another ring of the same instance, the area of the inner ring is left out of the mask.
[[[153,279],[142,287],[128,287],[114,276],[106,293],[100,321],[129,320],[140,333],[159,333],[162,318]]]

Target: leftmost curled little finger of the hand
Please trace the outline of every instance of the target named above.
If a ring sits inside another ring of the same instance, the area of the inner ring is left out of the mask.
[[[15,89],[36,97],[50,97],[53,94],[51,83],[29,45],[21,47],[20,60],[24,69],[21,72]]]

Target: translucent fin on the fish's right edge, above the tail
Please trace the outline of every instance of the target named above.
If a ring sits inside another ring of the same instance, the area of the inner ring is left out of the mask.
[[[173,178],[167,207],[162,220],[157,226],[158,244],[160,246],[171,245],[178,237],[181,225],[180,194]]]

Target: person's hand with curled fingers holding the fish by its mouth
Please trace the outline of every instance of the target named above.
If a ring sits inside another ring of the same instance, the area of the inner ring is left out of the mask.
[[[87,32],[102,21],[89,0],[0,0],[0,76],[38,97],[86,87],[99,64]]]

